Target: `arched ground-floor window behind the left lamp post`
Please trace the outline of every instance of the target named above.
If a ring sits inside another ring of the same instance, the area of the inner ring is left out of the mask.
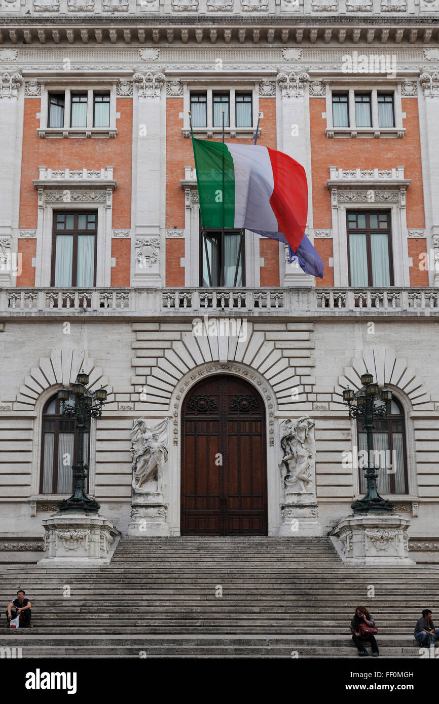
[[[84,462],[87,464],[88,458],[89,432],[84,434]],[[57,396],[52,396],[43,409],[40,494],[71,494],[73,491],[72,465],[77,459],[76,420],[64,418]]]

